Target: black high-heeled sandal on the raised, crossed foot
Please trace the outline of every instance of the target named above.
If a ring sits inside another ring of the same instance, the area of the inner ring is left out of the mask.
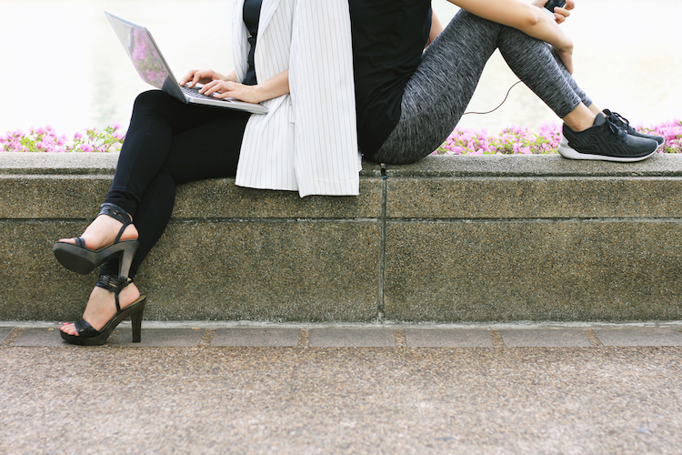
[[[125,227],[133,224],[133,220],[130,219],[123,208],[115,204],[105,203],[100,207],[100,215],[113,217],[123,223],[123,227],[118,231],[118,236],[116,236],[114,243],[95,251],[85,247],[85,240],[82,237],[76,237],[75,244],[55,242],[52,251],[61,265],[82,275],[90,273],[105,260],[118,257],[118,274],[122,277],[127,277],[140,241],[137,239],[121,240],[121,236],[123,236]]]

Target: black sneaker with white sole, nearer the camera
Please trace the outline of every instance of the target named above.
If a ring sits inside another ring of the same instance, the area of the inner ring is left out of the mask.
[[[654,139],[630,136],[609,117],[597,114],[595,123],[585,131],[573,131],[564,124],[564,137],[558,147],[569,159],[601,159],[604,161],[641,161],[656,153]]]

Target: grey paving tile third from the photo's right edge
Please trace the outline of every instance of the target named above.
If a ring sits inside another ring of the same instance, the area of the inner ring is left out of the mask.
[[[487,329],[405,329],[408,348],[492,348]]]

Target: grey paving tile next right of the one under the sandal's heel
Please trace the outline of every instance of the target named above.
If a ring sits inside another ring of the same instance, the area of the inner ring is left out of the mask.
[[[272,346],[296,348],[300,335],[301,329],[216,329],[216,335],[213,338],[211,346]]]

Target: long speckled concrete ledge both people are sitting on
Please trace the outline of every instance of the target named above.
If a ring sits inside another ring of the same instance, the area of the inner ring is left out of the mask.
[[[80,315],[95,275],[51,247],[95,217],[116,159],[0,154],[0,319]],[[180,187],[136,280],[145,318],[682,319],[682,157],[364,167],[360,197]]]

